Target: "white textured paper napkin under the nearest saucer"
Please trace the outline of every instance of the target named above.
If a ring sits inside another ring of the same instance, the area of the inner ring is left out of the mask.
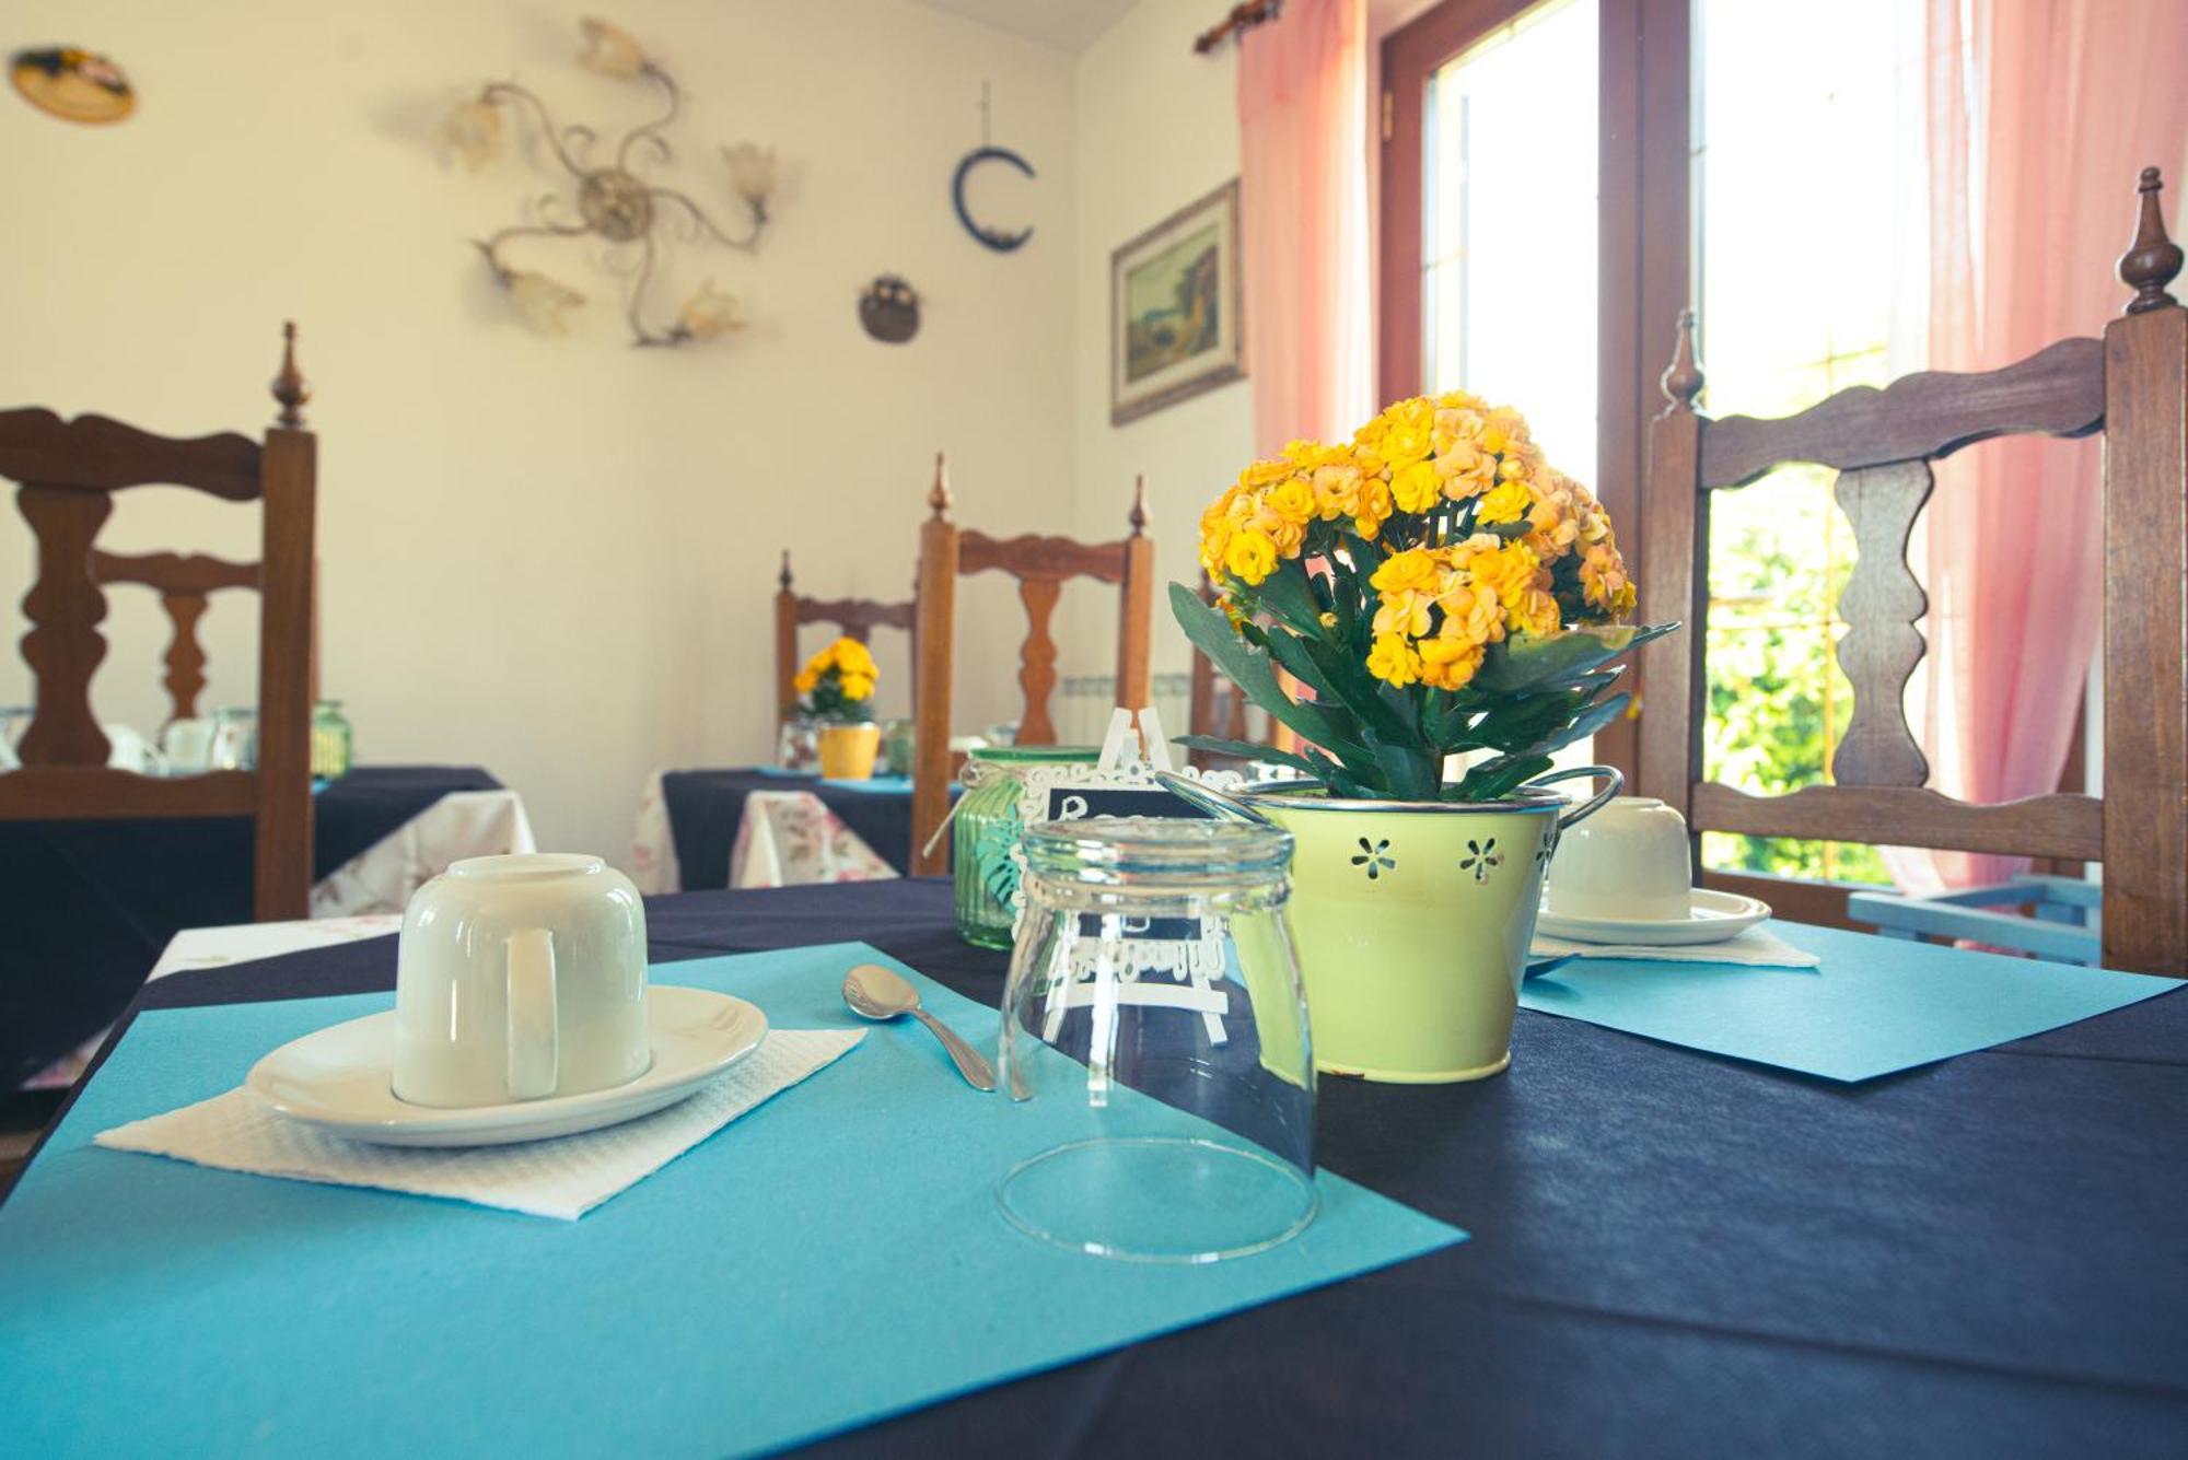
[[[241,1086],[103,1130],[96,1143],[225,1171],[442,1196],[575,1222],[753,1106],[834,1064],[862,1038],[864,1029],[777,1029],[667,1110],[523,1145],[416,1150],[346,1141],[276,1115]]]

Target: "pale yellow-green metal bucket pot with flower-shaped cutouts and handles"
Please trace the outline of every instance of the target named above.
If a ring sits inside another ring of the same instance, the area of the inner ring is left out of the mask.
[[[1291,927],[1315,1069],[1451,1084],[1512,1062],[1512,1014],[1558,831],[1617,796],[1606,776],[1569,806],[1523,787],[1501,802],[1339,800],[1267,785],[1245,802],[1295,839]]]

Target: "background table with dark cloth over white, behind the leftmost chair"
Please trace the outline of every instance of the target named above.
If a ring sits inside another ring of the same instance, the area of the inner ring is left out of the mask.
[[[361,765],[313,793],[315,918],[400,911],[451,859],[532,850],[477,765]],[[0,1091],[129,1005],[182,929],[252,922],[249,817],[0,824]]]

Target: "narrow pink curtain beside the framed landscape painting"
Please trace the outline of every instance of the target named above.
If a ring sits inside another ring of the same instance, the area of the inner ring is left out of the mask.
[[[1254,448],[1368,413],[1365,0],[1289,0],[1238,42],[1238,212]]]

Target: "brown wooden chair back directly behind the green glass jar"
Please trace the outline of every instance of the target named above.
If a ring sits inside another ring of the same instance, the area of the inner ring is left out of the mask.
[[[1017,682],[1026,710],[1017,721],[1022,745],[1055,745],[1048,695],[1057,686],[1057,643],[1048,636],[1063,581],[1092,577],[1118,586],[1122,610],[1116,634],[1116,697],[1133,710],[1149,704],[1149,640],[1155,619],[1155,540],[1147,535],[1147,479],[1133,487],[1131,535],[1120,542],[1072,538],[989,538],[950,520],[950,474],[934,455],[930,516],[919,529],[917,721],[919,747],[912,776],[912,872],[950,866],[947,837],[928,850],[950,813],[950,669],[956,643],[956,581],[967,573],[1009,573],[1026,605],[1026,640],[1017,651]]]

